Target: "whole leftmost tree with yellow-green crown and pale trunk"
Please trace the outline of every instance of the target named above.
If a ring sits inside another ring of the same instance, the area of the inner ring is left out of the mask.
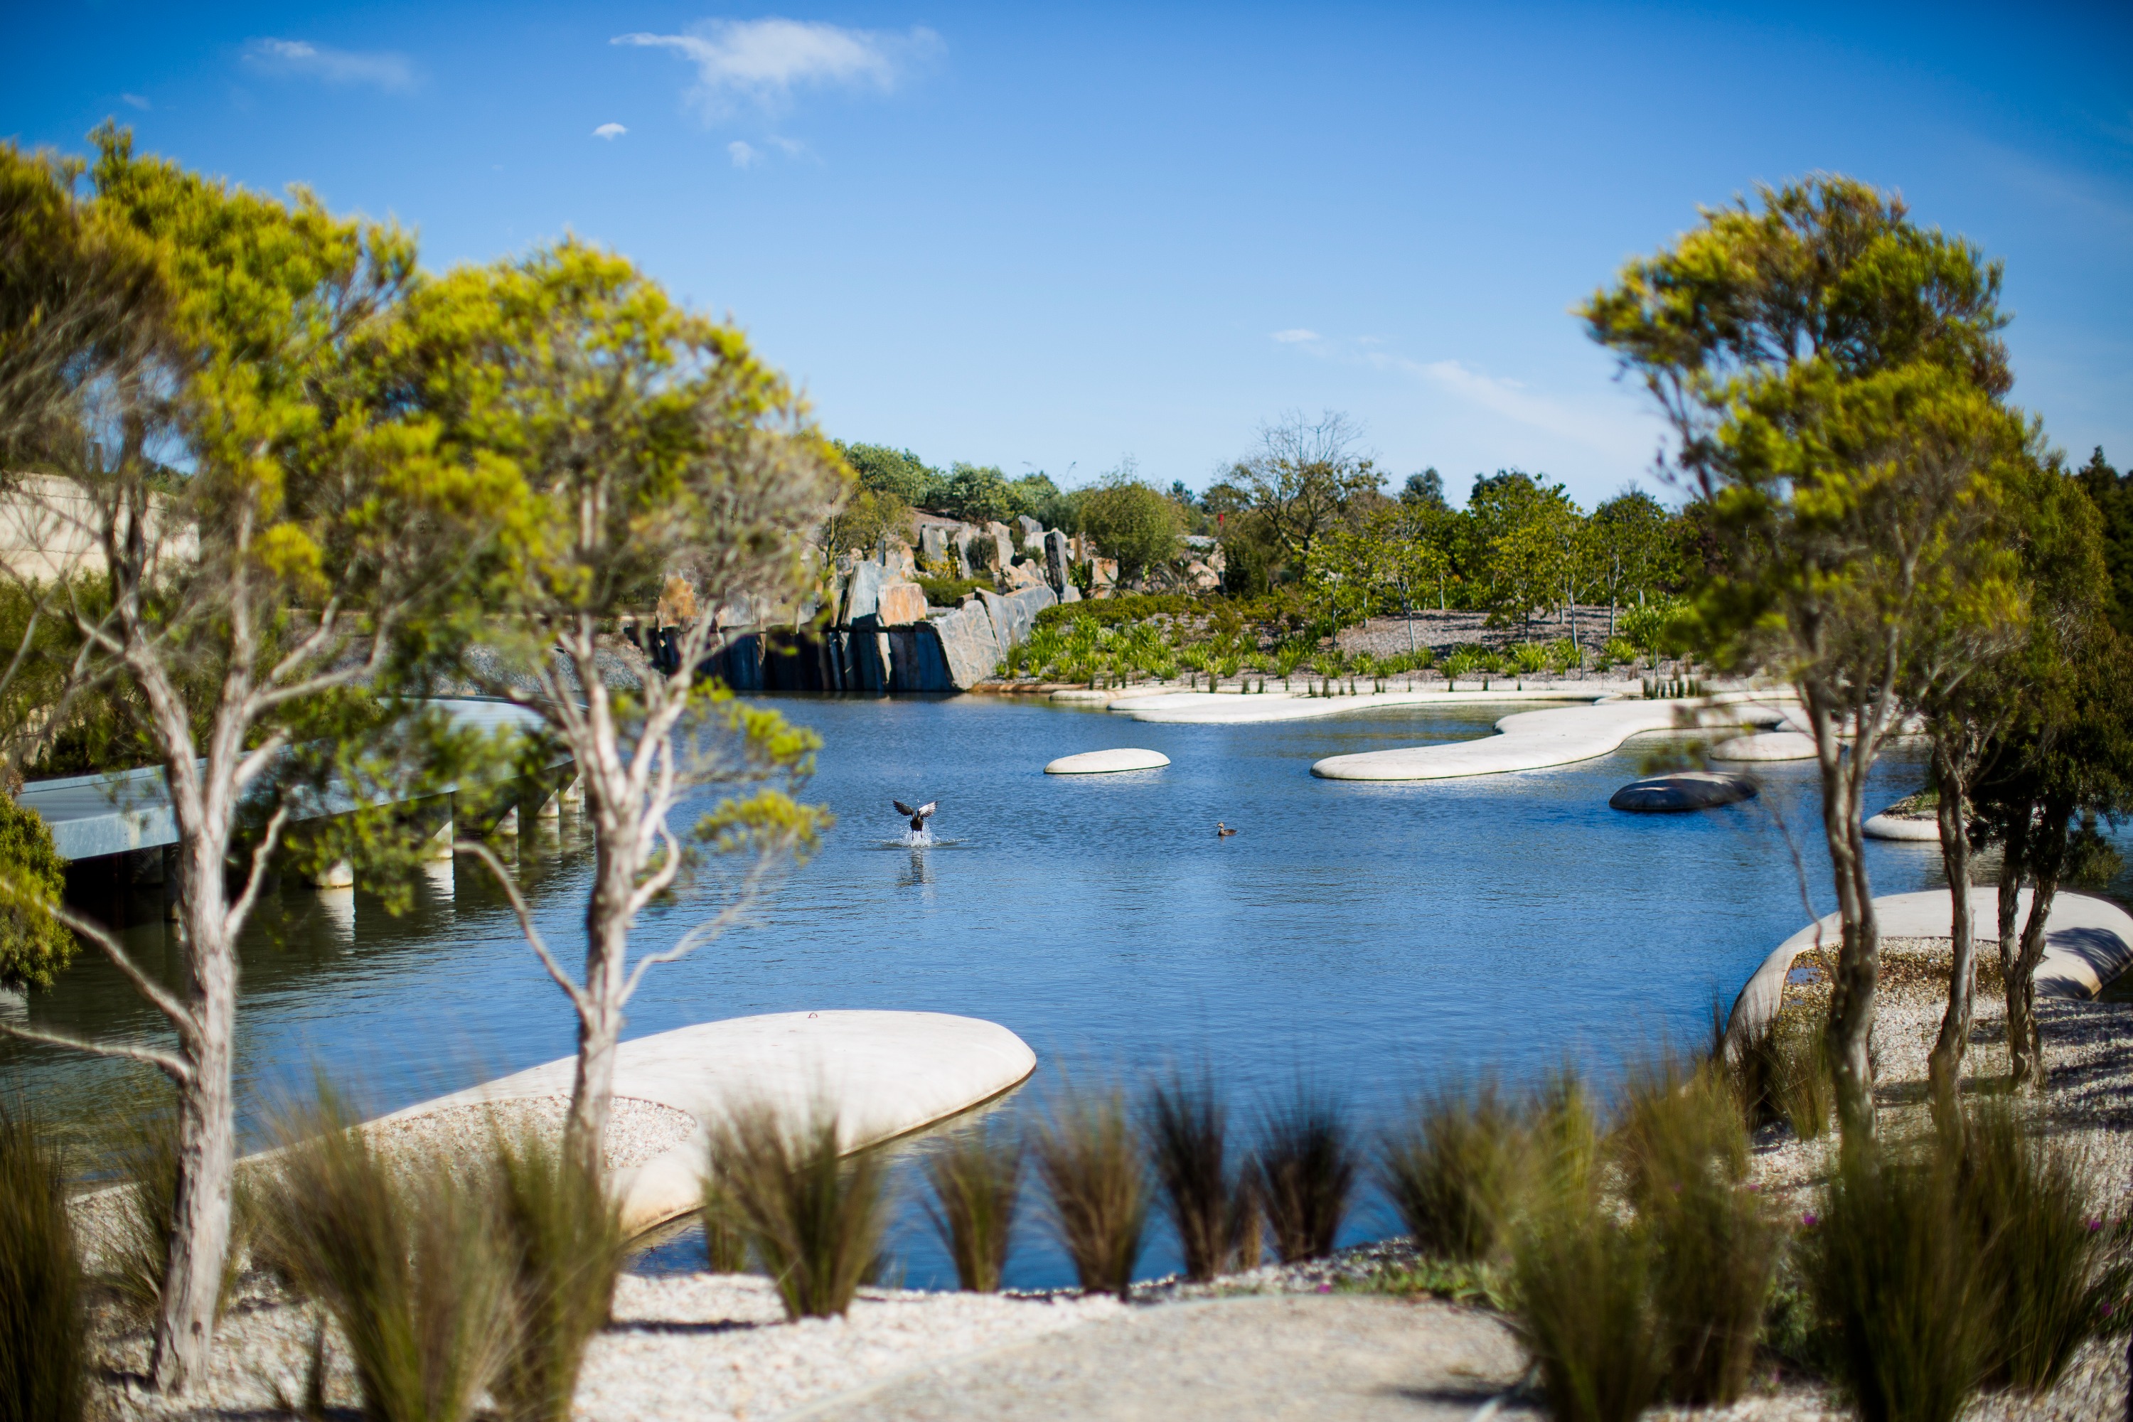
[[[286,770],[375,729],[350,699],[448,582],[463,539],[444,529],[493,490],[437,456],[435,426],[386,397],[371,358],[414,275],[403,232],[134,158],[111,128],[96,141],[87,198],[75,171],[0,153],[6,301],[45,292],[55,316],[11,330],[15,375],[45,371],[6,382],[0,414],[6,467],[43,471],[6,490],[43,556],[0,571],[66,644],[41,725],[96,706],[162,770],[181,981],[51,904],[169,1038],[0,1032],[175,1083],[151,1373],[183,1390],[207,1367],[228,1254],[237,938],[301,806]],[[9,898],[26,902],[21,885]]]

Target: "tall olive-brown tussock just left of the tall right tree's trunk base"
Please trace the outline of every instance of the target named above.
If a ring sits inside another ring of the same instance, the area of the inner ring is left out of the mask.
[[[1785,1245],[1749,1187],[1747,1126],[1732,1085],[1715,1068],[1683,1062],[1632,1072],[1613,1147],[1651,1251],[1666,1392],[1726,1407],[1747,1386]]]

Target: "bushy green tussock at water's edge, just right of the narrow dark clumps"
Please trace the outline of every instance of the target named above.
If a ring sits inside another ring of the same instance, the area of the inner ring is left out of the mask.
[[[1523,1151],[1517,1111],[1489,1079],[1416,1098],[1378,1147],[1378,1181],[1425,1256],[1478,1262],[1508,1245]]]

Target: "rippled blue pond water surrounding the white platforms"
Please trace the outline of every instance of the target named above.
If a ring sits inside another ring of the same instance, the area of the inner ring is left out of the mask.
[[[1815,910],[1832,906],[1811,763],[1766,767],[1768,789],[1747,806],[1606,808],[1655,757],[1689,744],[1679,736],[1561,770],[1359,785],[1316,780],[1310,763],[1482,736],[1514,708],[1182,727],[988,697],[779,706],[821,731],[815,793],[838,825],[757,925],[646,979],[631,1036],[796,1008],[968,1013],[1039,1053],[1039,1077],[1009,1113],[1030,1111],[1062,1066],[1207,1062],[1244,1104],[1310,1077],[1372,1121],[1433,1072],[1525,1077],[1566,1055],[1604,1068],[1662,1032],[1700,1036],[1713,996],[1730,1002],[1807,919],[1779,821]],[[1103,746],[1150,746],[1171,765],[1041,774],[1056,755]],[[1886,804],[1915,789],[1918,761],[1892,753],[1877,776],[1871,799]],[[939,799],[939,842],[900,844],[889,799]],[[1216,819],[1239,834],[1218,840]],[[1930,846],[1871,855],[1881,893],[1937,880]],[[527,836],[518,872],[550,942],[580,940],[580,825]],[[693,921],[687,902],[653,910],[636,942],[672,942]],[[162,934],[158,921],[128,930],[151,962]],[[87,959],[30,1015],[77,1032],[158,1025]],[[570,1051],[567,1004],[478,870],[442,868],[401,919],[360,891],[350,912],[292,885],[250,930],[239,1057],[250,1111],[314,1064],[388,1111]],[[158,1089],[132,1068],[19,1045],[0,1045],[0,1064],[79,1121]],[[907,1151],[898,1177],[911,1175]],[[904,1198],[904,1277],[953,1286]],[[1389,1228],[1372,1207],[1350,1234]],[[693,1258],[683,1239],[646,1266]],[[1143,1273],[1173,1258],[1158,1239]],[[1011,1283],[1064,1281],[1032,1230]]]

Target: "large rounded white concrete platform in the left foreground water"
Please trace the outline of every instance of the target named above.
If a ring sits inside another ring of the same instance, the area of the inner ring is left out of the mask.
[[[614,1094],[695,1117],[700,1130],[663,1156],[614,1173],[623,1228],[648,1230],[702,1202],[708,1128],[764,1102],[804,1124],[836,1111],[847,1151],[932,1126],[1022,1083],[1037,1053],[1007,1028],[949,1013],[772,1013],[729,1017],[623,1043]],[[395,1111],[401,1121],[446,1106],[567,1096],[576,1057]]]

